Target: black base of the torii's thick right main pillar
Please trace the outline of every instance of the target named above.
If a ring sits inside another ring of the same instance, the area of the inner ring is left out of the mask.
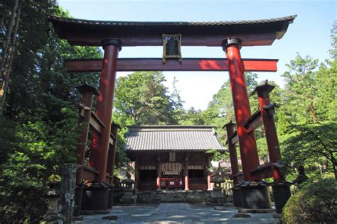
[[[268,186],[259,181],[245,181],[240,183],[242,194],[242,208],[272,208]]]

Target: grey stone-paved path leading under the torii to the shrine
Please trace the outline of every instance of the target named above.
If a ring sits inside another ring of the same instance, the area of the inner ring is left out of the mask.
[[[85,215],[75,223],[279,223],[272,213],[250,214],[251,218],[233,218],[237,209],[217,208],[201,204],[161,203],[159,205],[114,206],[109,215],[118,220],[102,220],[107,215]]]

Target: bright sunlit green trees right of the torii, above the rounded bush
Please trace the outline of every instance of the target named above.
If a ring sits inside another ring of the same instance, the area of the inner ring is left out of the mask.
[[[289,166],[323,164],[336,173],[337,60],[314,71],[317,64],[309,56],[291,60],[290,71],[284,73],[287,84],[277,111],[277,129],[282,157]]]

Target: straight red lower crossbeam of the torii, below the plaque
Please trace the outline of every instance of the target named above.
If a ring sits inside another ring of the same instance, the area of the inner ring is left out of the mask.
[[[242,59],[245,72],[277,72],[277,59]],[[100,72],[102,60],[79,59],[66,60],[68,72]],[[228,60],[225,58],[183,58],[180,64],[177,60],[167,60],[163,64],[161,58],[122,58],[117,59],[117,72],[134,71],[228,71]]]

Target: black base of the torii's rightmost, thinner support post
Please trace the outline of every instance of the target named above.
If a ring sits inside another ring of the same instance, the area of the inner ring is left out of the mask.
[[[276,213],[280,214],[291,196],[290,185],[286,183],[272,184],[272,194],[274,196]]]

